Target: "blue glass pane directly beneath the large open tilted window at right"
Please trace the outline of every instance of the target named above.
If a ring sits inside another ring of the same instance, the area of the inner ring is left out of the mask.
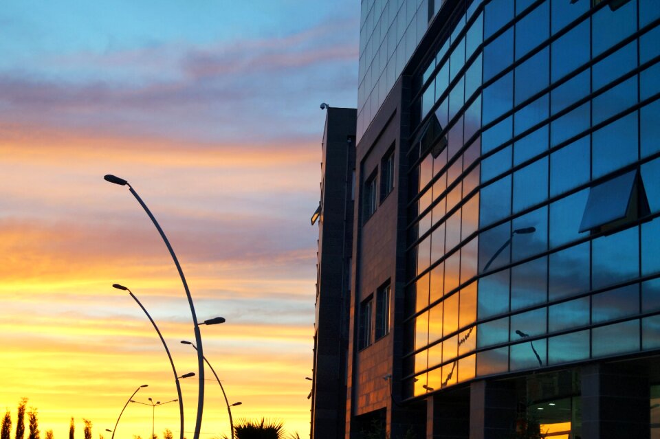
[[[639,276],[639,227],[593,240],[593,289]]]

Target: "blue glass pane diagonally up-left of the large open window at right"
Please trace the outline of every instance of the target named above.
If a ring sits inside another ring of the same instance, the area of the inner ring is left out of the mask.
[[[589,181],[591,137],[585,136],[550,155],[550,196]]]

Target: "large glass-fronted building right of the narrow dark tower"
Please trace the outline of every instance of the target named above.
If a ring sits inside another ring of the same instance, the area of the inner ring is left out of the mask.
[[[659,438],[660,1],[364,0],[357,133],[346,437]]]

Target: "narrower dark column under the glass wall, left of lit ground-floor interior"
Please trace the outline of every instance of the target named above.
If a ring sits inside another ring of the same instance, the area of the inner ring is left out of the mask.
[[[470,385],[470,439],[510,438],[516,425],[512,381],[475,381]]]

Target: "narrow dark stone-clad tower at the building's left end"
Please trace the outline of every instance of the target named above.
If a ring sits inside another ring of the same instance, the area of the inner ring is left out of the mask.
[[[344,436],[356,117],[355,109],[327,109],[322,142],[311,438]]]

